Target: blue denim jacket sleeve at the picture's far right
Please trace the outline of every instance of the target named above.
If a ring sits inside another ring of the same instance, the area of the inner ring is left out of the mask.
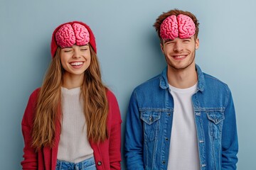
[[[238,134],[235,120],[235,107],[231,92],[228,91],[225,120],[222,132],[222,169],[236,169],[238,162]]]

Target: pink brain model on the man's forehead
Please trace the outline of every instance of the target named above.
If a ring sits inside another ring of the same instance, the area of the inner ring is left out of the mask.
[[[186,15],[167,17],[160,26],[160,36],[163,40],[175,38],[191,38],[196,33],[193,20]]]

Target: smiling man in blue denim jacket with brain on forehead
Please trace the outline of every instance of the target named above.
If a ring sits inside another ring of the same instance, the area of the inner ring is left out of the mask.
[[[238,135],[230,89],[195,63],[198,21],[163,13],[154,27],[167,67],[137,86],[127,113],[127,169],[236,169]]]

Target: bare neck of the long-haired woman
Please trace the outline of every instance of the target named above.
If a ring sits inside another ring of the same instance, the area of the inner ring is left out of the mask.
[[[72,75],[64,74],[62,86],[66,89],[74,89],[82,86],[82,81],[84,80],[84,75]]]

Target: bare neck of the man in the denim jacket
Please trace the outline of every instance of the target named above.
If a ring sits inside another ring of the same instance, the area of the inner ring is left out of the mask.
[[[196,66],[186,69],[173,69],[168,67],[167,78],[171,86],[178,89],[186,89],[196,84],[198,81]]]

